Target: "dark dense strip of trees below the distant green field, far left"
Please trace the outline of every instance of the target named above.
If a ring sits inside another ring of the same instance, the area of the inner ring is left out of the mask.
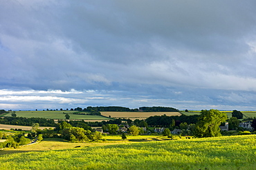
[[[4,117],[0,118],[0,124],[31,126],[33,123],[39,123],[42,127],[54,127],[53,119],[46,118],[22,118],[22,117]]]

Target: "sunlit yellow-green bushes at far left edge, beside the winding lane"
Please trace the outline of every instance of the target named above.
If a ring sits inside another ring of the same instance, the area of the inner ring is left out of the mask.
[[[15,135],[9,135],[5,142],[0,142],[0,148],[1,149],[5,147],[17,148],[21,145],[27,145],[28,143],[30,143],[30,139],[25,138],[24,132],[23,132]]]

